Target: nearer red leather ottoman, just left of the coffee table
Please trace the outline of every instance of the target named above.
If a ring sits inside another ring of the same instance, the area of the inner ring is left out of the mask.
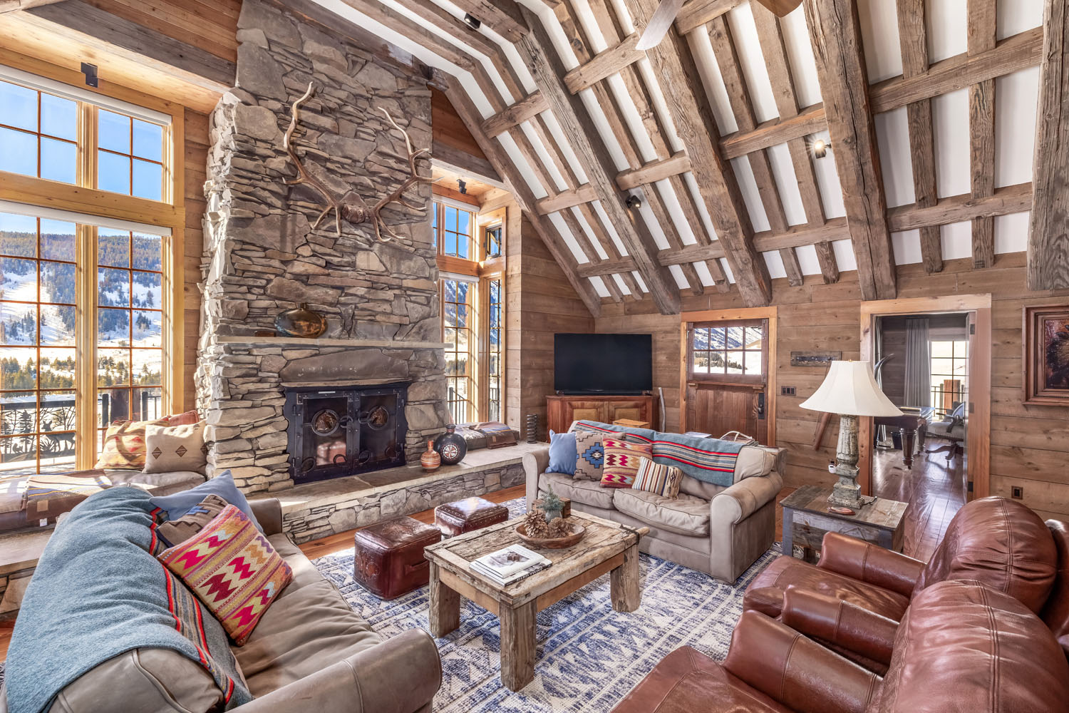
[[[412,517],[398,517],[358,530],[354,538],[353,578],[379,599],[397,599],[431,580],[423,547],[441,531]]]

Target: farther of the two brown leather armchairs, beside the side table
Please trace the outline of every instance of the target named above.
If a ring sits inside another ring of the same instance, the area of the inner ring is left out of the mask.
[[[974,500],[950,521],[927,563],[828,532],[816,565],[778,557],[746,589],[744,608],[778,617],[794,586],[900,621],[910,601],[946,579],[975,579],[1035,613],[1054,585],[1058,552],[1039,516],[1005,498]]]

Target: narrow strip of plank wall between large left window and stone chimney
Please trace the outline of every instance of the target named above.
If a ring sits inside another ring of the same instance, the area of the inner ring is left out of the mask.
[[[197,340],[200,338],[200,281],[201,262],[204,260],[204,235],[202,233],[204,212],[204,182],[207,180],[208,118],[192,109],[185,115],[185,207],[186,232],[183,246],[183,325],[185,343],[182,358],[185,372],[182,403],[187,410],[197,406],[193,374],[197,371]]]

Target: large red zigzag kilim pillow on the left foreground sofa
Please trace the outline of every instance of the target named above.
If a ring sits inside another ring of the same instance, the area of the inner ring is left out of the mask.
[[[223,630],[242,646],[293,571],[257,526],[232,505],[200,532],[159,554]]]

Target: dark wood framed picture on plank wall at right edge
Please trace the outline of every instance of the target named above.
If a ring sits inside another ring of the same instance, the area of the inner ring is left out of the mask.
[[[1024,308],[1024,403],[1069,406],[1069,305]]]

